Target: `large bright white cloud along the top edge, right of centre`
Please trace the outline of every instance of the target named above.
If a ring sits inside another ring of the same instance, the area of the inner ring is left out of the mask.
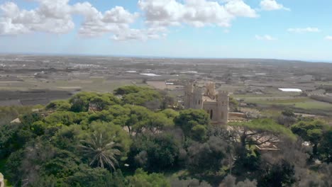
[[[257,17],[253,8],[242,0],[217,1],[184,0],[140,0],[138,6],[143,11],[150,26],[179,26],[187,23],[194,27],[231,26],[236,17]]]

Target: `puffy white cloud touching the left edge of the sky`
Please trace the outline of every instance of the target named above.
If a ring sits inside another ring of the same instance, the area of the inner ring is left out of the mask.
[[[39,1],[31,11],[21,10],[13,2],[0,5],[0,35],[16,35],[42,31],[67,33],[74,28],[67,1]]]

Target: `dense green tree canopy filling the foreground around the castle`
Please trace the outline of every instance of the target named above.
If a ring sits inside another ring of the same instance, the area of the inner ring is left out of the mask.
[[[205,111],[175,105],[165,92],[123,86],[114,94],[80,92],[39,111],[0,107],[0,171],[12,186],[331,186],[325,123],[218,126]],[[10,123],[17,117],[21,123]],[[253,146],[265,143],[278,149]]]

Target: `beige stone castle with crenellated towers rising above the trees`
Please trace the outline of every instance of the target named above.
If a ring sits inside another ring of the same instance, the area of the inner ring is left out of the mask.
[[[204,87],[190,83],[184,89],[184,108],[203,109],[209,113],[211,123],[226,124],[229,111],[228,91],[216,92],[216,85],[213,82],[207,83]]]

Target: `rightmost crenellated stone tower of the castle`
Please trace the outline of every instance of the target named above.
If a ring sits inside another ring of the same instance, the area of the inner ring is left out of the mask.
[[[226,124],[228,122],[229,94],[228,91],[218,91],[218,123]]]

